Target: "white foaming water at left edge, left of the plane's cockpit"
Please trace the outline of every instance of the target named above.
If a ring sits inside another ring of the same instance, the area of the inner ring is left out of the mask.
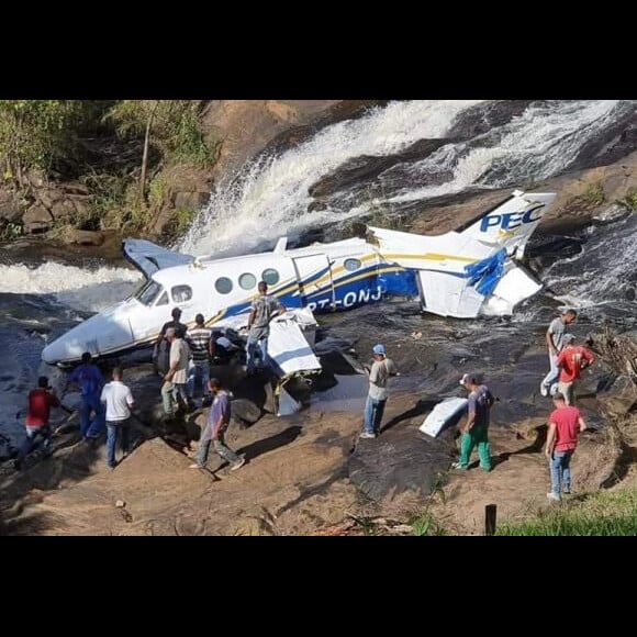
[[[87,270],[48,261],[37,268],[0,266],[0,292],[52,294],[85,312],[99,312],[128,297],[143,280],[137,270],[99,268]]]

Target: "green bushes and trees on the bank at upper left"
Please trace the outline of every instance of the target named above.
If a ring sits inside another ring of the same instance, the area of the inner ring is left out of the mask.
[[[148,230],[172,208],[165,169],[206,169],[220,144],[205,139],[200,100],[0,100],[0,182],[29,192],[30,176],[77,180],[90,194],[87,212],[66,220],[82,230]],[[172,233],[194,211],[169,219]],[[165,217],[166,219],[166,217]],[[15,227],[0,235],[13,237]]]

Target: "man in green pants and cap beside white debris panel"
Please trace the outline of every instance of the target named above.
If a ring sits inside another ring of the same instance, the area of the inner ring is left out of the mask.
[[[466,471],[469,468],[471,451],[477,446],[480,467],[484,471],[491,471],[489,416],[494,402],[493,394],[485,384],[479,384],[478,378],[471,373],[466,373],[460,379],[460,384],[469,392],[469,402],[467,404],[469,414],[462,428],[460,458],[458,462],[454,462],[452,468]]]

